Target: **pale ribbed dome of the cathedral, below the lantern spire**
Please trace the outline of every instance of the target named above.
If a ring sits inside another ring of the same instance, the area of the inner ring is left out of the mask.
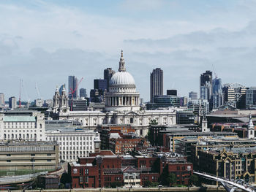
[[[129,72],[116,72],[110,79],[110,85],[135,85],[135,80]]]

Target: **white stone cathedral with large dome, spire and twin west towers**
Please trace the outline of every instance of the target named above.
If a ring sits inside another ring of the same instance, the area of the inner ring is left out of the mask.
[[[176,124],[176,110],[140,110],[140,93],[136,91],[135,80],[125,68],[123,52],[118,72],[110,79],[104,112],[69,111],[65,89],[61,96],[56,89],[53,113],[58,114],[60,120],[78,120],[85,128],[96,128],[102,124],[129,124],[143,137],[148,133],[151,120],[156,120],[159,125]]]

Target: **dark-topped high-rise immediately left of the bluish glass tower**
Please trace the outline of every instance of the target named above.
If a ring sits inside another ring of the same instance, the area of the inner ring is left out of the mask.
[[[212,94],[212,72],[206,71],[200,75],[200,99],[211,100]]]

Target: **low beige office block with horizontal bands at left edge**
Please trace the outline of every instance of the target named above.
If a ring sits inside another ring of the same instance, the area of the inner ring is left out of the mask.
[[[56,142],[0,142],[0,170],[55,170],[58,164],[59,146]]]

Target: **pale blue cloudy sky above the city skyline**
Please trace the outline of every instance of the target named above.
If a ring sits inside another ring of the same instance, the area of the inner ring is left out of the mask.
[[[52,99],[69,75],[87,93],[104,69],[127,72],[150,97],[150,72],[164,71],[164,93],[199,91],[200,74],[255,86],[256,1],[0,1],[0,93]],[[39,93],[37,93],[36,85]]]

